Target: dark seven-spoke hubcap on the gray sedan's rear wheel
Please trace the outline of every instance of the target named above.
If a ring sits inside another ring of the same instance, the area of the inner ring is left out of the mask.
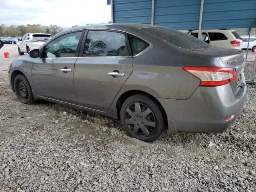
[[[152,110],[142,103],[130,104],[124,118],[128,128],[141,137],[150,136],[156,128],[156,118]]]

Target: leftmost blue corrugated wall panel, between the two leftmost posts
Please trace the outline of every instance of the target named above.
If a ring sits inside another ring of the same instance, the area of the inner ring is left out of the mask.
[[[151,0],[114,0],[114,23],[151,23]]]

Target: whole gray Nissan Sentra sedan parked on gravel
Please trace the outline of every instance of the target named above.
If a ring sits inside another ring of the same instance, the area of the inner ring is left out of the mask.
[[[120,118],[152,142],[176,132],[222,132],[246,101],[244,52],[144,24],[71,28],[9,66],[25,104],[48,100]]]

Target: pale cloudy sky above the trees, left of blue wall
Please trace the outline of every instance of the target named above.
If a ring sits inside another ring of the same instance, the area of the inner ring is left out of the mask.
[[[0,0],[0,24],[100,24],[111,21],[107,0]]]

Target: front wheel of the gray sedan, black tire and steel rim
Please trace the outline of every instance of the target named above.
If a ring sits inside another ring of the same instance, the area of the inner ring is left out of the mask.
[[[20,102],[24,104],[35,102],[30,84],[24,75],[20,74],[15,77],[14,90]]]

